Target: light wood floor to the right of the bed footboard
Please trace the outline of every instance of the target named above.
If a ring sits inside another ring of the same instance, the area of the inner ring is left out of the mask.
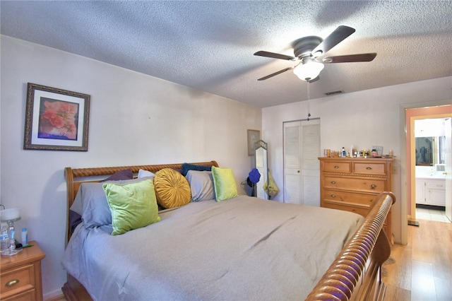
[[[386,301],[452,300],[452,223],[418,220],[383,265]]]

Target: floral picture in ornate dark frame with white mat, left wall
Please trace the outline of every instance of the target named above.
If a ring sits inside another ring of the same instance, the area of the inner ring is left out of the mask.
[[[88,151],[90,95],[28,83],[23,149]]]

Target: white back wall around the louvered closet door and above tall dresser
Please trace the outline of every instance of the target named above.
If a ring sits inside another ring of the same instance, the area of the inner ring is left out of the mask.
[[[315,90],[316,83],[311,85],[311,90]],[[393,174],[393,192],[397,198],[393,206],[396,242],[401,242],[402,206],[407,206],[400,192],[406,182],[401,179],[400,170],[405,165],[400,162],[400,144],[403,141],[400,136],[400,105],[422,102],[423,106],[428,106],[428,102],[436,100],[450,103],[451,89],[452,77],[446,77],[310,101],[311,118],[321,119],[321,150],[331,148],[339,151],[343,146],[350,149],[351,145],[358,149],[383,146],[383,153],[392,149],[398,157]],[[263,140],[268,142],[269,168],[280,188],[283,187],[283,122],[307,119],[307,108],[307,101],[304,101],[262,110],[262,133]],[[275,199],[283,201],[283,193],[280,192]]]

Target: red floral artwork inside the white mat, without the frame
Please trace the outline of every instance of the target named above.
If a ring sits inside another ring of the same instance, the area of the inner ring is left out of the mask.
[[[77,140],[78,103],[41,98],[39,138]]]

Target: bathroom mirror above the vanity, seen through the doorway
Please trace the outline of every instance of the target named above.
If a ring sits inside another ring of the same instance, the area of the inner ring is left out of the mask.
[[[444,164],[445,136],[416,137],[416,165]]]

